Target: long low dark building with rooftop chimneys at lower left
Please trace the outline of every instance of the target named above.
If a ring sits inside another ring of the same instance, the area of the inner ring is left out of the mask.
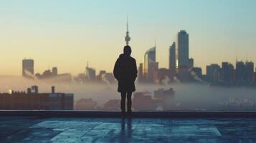
[[[21,109],[21,110],[72,110],[74,95],[65,93],[38,93],[38,87],[33,86],[26,92],[15,92],[0,94],[0,109]],[[34,90],[36,89],[36,90]]]

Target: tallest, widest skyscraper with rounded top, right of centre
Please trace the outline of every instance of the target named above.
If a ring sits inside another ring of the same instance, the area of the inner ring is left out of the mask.
[[[178,69],[189,68],[189,34],[181,30],[175,38],[176,67]]]

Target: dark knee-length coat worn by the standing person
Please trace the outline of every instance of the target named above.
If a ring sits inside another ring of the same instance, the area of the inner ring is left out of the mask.
[[[118,80],[118,92],[134,92],[134,81],[137,77],[136,59],[126,54],[120,54],[115,61],[113,74]]]

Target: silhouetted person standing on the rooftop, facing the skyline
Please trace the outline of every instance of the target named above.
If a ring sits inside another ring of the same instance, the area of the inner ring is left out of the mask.
[[[124,46],[123,54],[115,61],[113,74],[118,80],[118,92],[121,93],[120,109],[125,115],[125,99],[127,97],[127,112],[131,114],[131,95],[136,88],[134,82],[137,77],[136,59],[131,57],[131,47]]]

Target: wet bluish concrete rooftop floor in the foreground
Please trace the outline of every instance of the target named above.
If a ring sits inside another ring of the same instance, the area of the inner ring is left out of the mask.
[[[0,142],[256,142],[256,119],[1,116]]]

